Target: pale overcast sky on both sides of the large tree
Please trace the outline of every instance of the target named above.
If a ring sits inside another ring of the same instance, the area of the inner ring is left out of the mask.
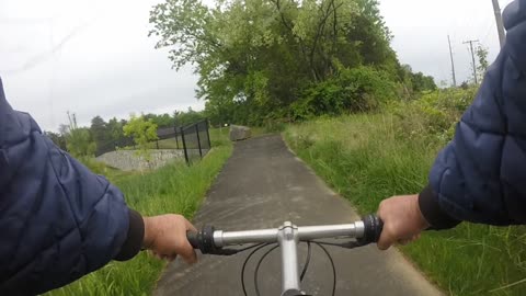
[[[0,0],[0,77],[11,105],[44,129],[130,112],[202,110],[191,67],[171,69],[167,50],[148,38],[159,0]],[[500,0],[502,9],[512,0]],[[467,39],[499,52],[491,0],[380,0],[403,64],[450,83],[447,35],[457,80],[470,75]]]

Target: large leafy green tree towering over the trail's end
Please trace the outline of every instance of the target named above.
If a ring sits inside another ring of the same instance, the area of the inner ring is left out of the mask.
[[[165,0],[150,13],[157,47],[179,69],[196,66],[197,95],[214,121],[262,123],[336,69],[400,67],[376,0]],[[228,111],[227,111],[228,110]]]

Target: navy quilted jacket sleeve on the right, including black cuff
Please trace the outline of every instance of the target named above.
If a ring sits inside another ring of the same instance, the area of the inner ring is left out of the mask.
[[[504,23],[506,44],[420,194],[435,229],[526,224],[526,0],[506,8]]]

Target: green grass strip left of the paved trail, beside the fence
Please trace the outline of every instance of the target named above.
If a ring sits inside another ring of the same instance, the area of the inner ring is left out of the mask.
[[[232,147],[225,133],[210,130],[215,148],[192,167],[172,163],[145,174],[123,173],[94,162],[90,168],[115,183],[127,204],[142,215],[178,213],[192,218]],[[111,262],[102,270],[46,295],[150,295],[165,263],[140,253],[127,262]]]

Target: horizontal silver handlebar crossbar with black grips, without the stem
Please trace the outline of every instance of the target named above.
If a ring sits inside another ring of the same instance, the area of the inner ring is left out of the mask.
[[[192,247],[199,249],[203,254],[232,254],[235,250],[224,250],[222,248],[247,243],[278,242],[279,231],[287,227],[297,231],[298,241],[344,237],[355,238],[361,246],[365,246],[378,242],[384,223],[376,215],[368,215],[353,224],[297,227],[285,223],[278,228],[244,231],[216,230],[213,226],[206,225],[197,232],[187,232],[187,239]]]

